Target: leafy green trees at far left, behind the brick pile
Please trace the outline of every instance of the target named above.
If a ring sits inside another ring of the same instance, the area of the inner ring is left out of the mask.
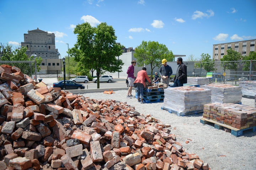
[[[11,45],[7,44],[5,46],[4,44],[1,43],[0,60],[1,61],[36,61],[37,71],[39,71],[40,70],[39,65],[42,62],[42,58],[41,57],[34,58],[31,55],[27,56],[26,51],[27,51],[27,47],[25,46],[12,50]],[[26,75],[29,75],[31,73],[31,66],[29,66],[27,63],[15,62],[15,63],[10,63],[9,65],[15,65],[16,67],[21,69],[22,73]],[[32,69],[32,73],[34,73],[34,69]]]

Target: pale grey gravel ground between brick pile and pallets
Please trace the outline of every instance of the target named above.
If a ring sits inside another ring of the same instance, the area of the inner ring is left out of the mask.
[[[91,99],[112,99],[127,102],[140,114],[150,114],[164,124],[171,125],[171,132],[176,135],[187,153],[195,153],[212,170],[255,170],[256,169],[256,132],[235,137],[229,132],[217,130],[213,126],[200,123],[202,114],[177,116],[161,110],[163,103],[140,104],[136,98],[127,99],[127,90],[113,94],[85,93]],[[133,90],[133,95],[135,92]],[[242,104],[255,106],[254,99],[242,98]],[[186,141],[190,141],[186,144]]]

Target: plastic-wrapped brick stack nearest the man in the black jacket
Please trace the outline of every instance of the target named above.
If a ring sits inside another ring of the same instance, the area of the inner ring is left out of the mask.
[[[184,86],[167,88],[164,92],[163,108],[171,109],[180,116],[194,114],[194,111],[198,110],[203,111],[203,105],[211,103],[211,91],[205,88]]]

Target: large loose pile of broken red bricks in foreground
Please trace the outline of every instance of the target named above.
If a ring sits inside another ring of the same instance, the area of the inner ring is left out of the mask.
[[[0,66],[0,169],[208,170],[150,115]]]

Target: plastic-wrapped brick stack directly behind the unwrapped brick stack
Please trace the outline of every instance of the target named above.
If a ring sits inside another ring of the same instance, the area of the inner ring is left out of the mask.
[[[212,90],[212,103],[241,103],[242,91],[240,86],[207,84],[201,87]]]

